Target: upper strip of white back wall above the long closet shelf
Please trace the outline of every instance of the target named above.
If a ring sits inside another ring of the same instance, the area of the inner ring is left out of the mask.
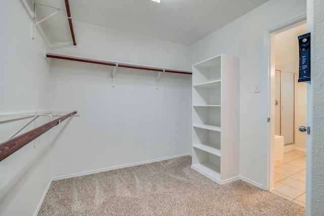
[[[188,46],[78,21],[73,27],[80,48],[52,52],[191,71]]]

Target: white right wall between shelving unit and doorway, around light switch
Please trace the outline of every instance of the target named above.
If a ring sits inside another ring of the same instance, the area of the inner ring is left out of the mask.
[[[191,47],[192,63],[220,53],[240,58],[240,175],[263,188],[268,117],[264,30],[305,11],[304,0],[272,0]],[[261,93],[254,93],[258,82]]]

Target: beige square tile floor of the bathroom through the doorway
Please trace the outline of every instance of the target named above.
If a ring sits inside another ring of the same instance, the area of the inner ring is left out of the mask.
[[[305,207],[306,152],[294,150],[274,161],[274,189],[271,191]]]

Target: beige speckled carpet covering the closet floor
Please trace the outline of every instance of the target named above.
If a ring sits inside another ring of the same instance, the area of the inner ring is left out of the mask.
[[[244,181],[218,185],[179,157],[54,181],[38,215],[304,215]]]

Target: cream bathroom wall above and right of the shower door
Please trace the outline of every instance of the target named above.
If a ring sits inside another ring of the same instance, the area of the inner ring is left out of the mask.
[[[307,83],[298,82],[299,46],[298,36],[306,33],[306,24],[275,35],[276,69],[295,73],[295,144],[306,149],[306,133],[300,132],[299,126],[306,126]],[[285,88],[282,86],[282,88]],[[294,122],[292,122],[294,123]]]

